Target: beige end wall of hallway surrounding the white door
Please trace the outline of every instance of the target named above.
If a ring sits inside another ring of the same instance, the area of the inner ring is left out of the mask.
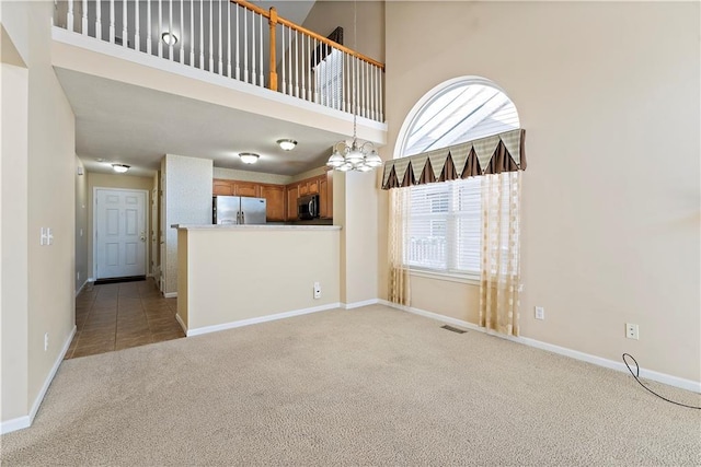
[[[131,175],[125,174],[102,174],[90,172],[88,173],[88,225],[90,230],[90,235],[88,235],[88,272],[90,278],[94,279],[94,270],[93,267],[95,265],[93,257],[93,238],[95,237],[94,225],[93,225],[93,203],[94,203],[94,191],[95,188],[122,188],[122,189],[142,189],[148,191],[147,202],[145,206],[146,211],[148,212],[148,225],[150,226],[151,220],[151,210],[149,207],[151,206],[151,189],[153,188],[153,178],[151,177],[135,177]],[[150,227],[149,227],[150,231]],[[150,243],[147,243],[147,255],[150,252]],[[147,270],[147,275],[150,275],[150,269]]]

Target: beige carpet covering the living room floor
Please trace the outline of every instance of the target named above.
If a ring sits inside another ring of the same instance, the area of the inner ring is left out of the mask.
[[[369,306],[68,360],[34,425],[2,436],[0,459],[701,464],[700,410],[624,373],[440,325]]]

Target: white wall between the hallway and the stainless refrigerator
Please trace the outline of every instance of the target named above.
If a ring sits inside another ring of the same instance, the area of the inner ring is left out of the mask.
[[[177,293],[177,231],[173,224],[211,224],[212,163],[206,159],[166,154],[162,164],[165,218],[165,258],[163,293]]]

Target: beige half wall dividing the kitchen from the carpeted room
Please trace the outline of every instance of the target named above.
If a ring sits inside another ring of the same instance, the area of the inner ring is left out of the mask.
[[[179,315],[193,330],[338,303],[340,231],[320,229],[179,231]]]

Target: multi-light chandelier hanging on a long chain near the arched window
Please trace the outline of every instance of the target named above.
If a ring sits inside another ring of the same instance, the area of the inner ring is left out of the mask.
[[[353,40],[354,48],[357,49],[358,43],[358,13],[357,13],[357,4],[353,2]],[[356,60],[353,61],[353,75],[354,79],[357,77],[356,74]],[[376,167],[382,165],[382,160],[379,154],[375,150],[375,144],[370,141],[359,142],[357,138],[357,129],[358,129],[358,91],[357,86],[355,87],[355,95],[353,98],[353,141],[350,145],[348,145],[347,141],[338,141],[333,145],[333,153],[331,157],[329,157],[329,162],[326,165],[332,167],[333,170],[341,172],[348,171],[359,171],[359,172],[368,172]]]

